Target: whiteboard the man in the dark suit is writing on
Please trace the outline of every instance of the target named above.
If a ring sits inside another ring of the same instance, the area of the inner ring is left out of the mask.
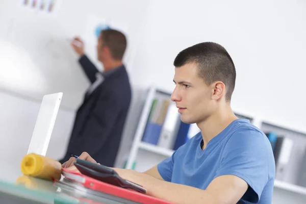
[[[89,39],[93,19],[122,28],[128,41],[124,64],[131,71],[147,1],[57,0],[53,15],[25,9],[21,2],[0,0],[0,89],[36,99],[63,92],[61,107],[77,108],[89,81],[69,39],[85,38],[86,54],[103,69]]]

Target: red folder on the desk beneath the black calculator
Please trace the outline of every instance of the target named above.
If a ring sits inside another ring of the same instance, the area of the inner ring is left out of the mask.
[[[125,198],[128,200],[132,200],[135,202],[140,203],[148,203],[148,204],[171,204],[171,202],[168,202],[166,200],[162,200],[160,198],[152,197],[143,193],[136,192],[134,190],[121,188],[115,185],[111,185],[105,182],[98,181],[96,179],[93,179],[92,177],[86,176],[84,174],[81,174],[79,172],[70,171],[67,169],[62,169],[62,174],[67,177],[67,179],[70,179],[74,182],[78,182],[82,184],[84,187],[100,191],[103,193],[107,193],[110,195],[114,195],[117,197]]]

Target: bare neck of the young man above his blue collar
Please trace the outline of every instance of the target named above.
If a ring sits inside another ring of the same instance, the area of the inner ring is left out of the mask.
[[[233,113],[230,106],[219,109],[214,115],[208,117],[205,121],[197,123],[197,126],[201,130],[204,145],[202,149],[205,149],[207,143],[221,133],[225,127],[231,124],[238,117]]]

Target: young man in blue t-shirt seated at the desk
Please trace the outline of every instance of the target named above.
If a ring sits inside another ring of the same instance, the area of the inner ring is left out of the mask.
[[[174,66],[171,99],[181,120],[201,132],[144,173],[115,170],[174,203],[271,203],[272,148],[262,131],[231,109],[236,71],[230,55],[219,44],[199,43],[179,53]],[[86,152],[80,158],[95,162]]]

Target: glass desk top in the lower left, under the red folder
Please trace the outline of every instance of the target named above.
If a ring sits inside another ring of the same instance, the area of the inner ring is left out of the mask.
[[[72,181],[50,182],[22,175],[20,167],[1,165],[0,203],[137,203],[93,191]]]

